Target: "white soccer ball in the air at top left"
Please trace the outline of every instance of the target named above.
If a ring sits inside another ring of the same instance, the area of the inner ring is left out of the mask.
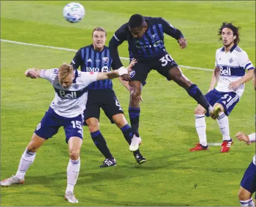
[[[85,8],[79,3],[69,3],[63,9],[63,16],[68,22],[76,23],[85,17]]]

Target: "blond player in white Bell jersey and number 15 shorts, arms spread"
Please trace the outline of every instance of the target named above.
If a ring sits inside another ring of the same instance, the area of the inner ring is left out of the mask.
[[[135,60],[130,64],[136,63]],[[129,68],[129,67],[128,67]],[[33,79],[41,77],[49,80],[56,91],[54,100],[20,158],[19,168],[15,176],[1,181],[1,186],[23,184],[28,167],[35,160],[36,151],[60,127],[64,127],[70,160],[67,166],[67,189],[65,199],[70,203],[78,203],[73,189],[80,171],[80,148],[83,143],[83,111],[87,101],[88,85],[96,80],[114,79],[128,73],[128,68],[110,72],[81,72],[74,70],[70,64],[64,63],[59,69],[27,69],[25,76]]]

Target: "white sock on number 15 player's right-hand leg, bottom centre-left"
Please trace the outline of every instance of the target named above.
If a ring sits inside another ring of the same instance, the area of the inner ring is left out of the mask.
[[[80,157],[78,160],[69,160],[67,166],[67,192],[73,192],[80,172]]]

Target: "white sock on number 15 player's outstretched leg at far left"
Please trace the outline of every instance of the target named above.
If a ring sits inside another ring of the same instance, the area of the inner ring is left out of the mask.
[[[25,178],[25,174],[28,170],[28,167],[34,162],[35,157],[36,152],[28,152],[26,148],[22,157],[20,158],[19,168],[15,176],[23,180]]]

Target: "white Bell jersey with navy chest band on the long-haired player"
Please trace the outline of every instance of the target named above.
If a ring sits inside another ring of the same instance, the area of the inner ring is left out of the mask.
[[[254,69],[247,53],[237,45],[234,45],[227,53],[225,47],[221,47],[216,51],[216,66],[220,68],[220,79],[216,90],[219,92],[236,92],[241,98],[245,84],[239,85],[235,90],[229,89],[228,86],[231,82],[241,79],[246,74],[246,70]]]

